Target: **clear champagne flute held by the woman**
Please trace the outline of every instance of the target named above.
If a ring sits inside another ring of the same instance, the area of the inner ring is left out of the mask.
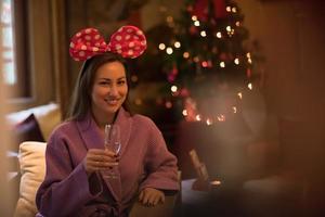
[[[120,130],[118,125],[116,124],[105,125],[104,145],[106,150],[109,150],[115,154],[119,153],[121,144],[120,144]],[[113,169],[109,169],[105,177],[117,178],[117,175],[114,173]]]

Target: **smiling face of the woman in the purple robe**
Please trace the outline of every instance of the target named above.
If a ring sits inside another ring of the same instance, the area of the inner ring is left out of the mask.
[[[101,122],[112,122],[126,101],[128,84],[125,66],[120,62],[105,63],[95,73],[91,92],[91,108]]]

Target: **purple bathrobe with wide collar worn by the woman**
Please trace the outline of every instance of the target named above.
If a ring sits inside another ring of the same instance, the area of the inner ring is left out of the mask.
[[[36,204],[46,217],[127,216],[138,193],[152,187],[179,190],[177,158],[167,150],[156,125],[120,108],[121,150],[117,179],[99,171],[88,178],[82,159],[89,149],[104,149],[104,139],[91,115],[67,122],[52,133],[46,152],[47,174]]]

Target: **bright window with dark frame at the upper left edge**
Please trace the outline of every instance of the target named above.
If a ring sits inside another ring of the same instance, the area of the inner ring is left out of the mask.
[[[26,1],[1,1],[1,26],[3,50],[3,80],[11,98],[29,97],[29,74],[27,67]]]

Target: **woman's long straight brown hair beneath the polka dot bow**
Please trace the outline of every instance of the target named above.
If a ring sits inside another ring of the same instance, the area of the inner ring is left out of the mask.
[[[79,72],[79,76],[75,86],[72,104],[67,114],[68,120],[82,119],[89,113],[91,108],[91,91],[96,71],[105,63],[112,63],[116,61],[125,66],[127,85],[129,86],[130,74],[128,72],[128,64],[120,55],[107,52],[87,60]],[[128,97],[129,91],[122,107],[130,112]]]

